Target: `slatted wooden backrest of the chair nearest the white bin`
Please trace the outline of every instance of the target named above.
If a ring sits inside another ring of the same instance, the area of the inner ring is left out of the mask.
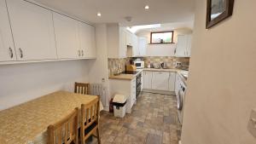
[[[100,116],[100,99],[91,101],[89,104],[82,104],[81,106],[81,128],[84,131],[91,124],[98,124]],[[84,136],[84,135],[83,135]]]

